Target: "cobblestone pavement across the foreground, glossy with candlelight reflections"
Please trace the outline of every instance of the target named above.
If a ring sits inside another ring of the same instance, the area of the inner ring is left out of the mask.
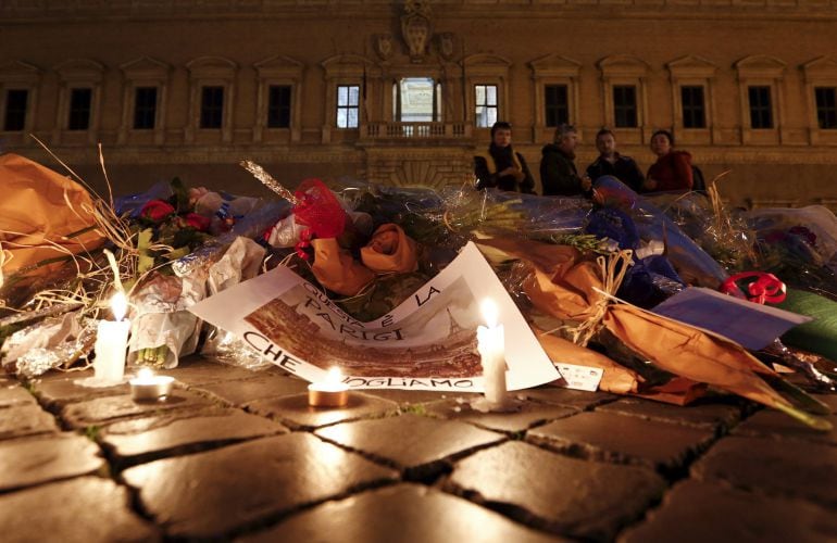
[[[837,540],[837,433],[728,396],[542,387],[480,414],[374,391],[314,409],[278,369],[166,374],[152,404],[78,372],[0,377],[0,540]]]

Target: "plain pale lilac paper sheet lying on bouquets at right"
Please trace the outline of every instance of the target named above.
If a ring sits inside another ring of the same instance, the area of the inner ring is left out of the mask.
[[[728,338],[746,349],[764,349],[811,317],[740,300],[711,289],[689,287],[653,310],[680,323]]]

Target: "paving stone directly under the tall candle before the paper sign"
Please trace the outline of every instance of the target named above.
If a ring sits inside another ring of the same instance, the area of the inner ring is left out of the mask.
[[[512,413],[480,413],[471,408],[469,402],[457,401],[428,404],[424,412],[434,417],[461,420],[508,433],[523,432],[533,426],[578,413],[572,407],[537,402],[520,402],[519,411]]]

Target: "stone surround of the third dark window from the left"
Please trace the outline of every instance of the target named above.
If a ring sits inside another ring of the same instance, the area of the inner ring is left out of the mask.
[[[122,64],[120,68],[122,70],[125,85],[123,86],[122,124],[117,134],[117,143],[128,143],[132,136],[135,136],[135,134],[132,134],[134,130],[132,119],[136,108],[136,89],[138,87],[154,87],[157,88],[158,100],[152,142],[155,146],[164,144],[168,78],[172,73],[172,66],[149,56],[140,56]]]

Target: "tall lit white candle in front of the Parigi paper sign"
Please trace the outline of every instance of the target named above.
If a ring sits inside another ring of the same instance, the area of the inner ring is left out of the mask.
[[[499,310],[491,299],[479,304],[488,326],[476,329],[477,351],[483,364],[485,397],[491,404],[505,403],[505,341],[503,325],[498,324]]]

